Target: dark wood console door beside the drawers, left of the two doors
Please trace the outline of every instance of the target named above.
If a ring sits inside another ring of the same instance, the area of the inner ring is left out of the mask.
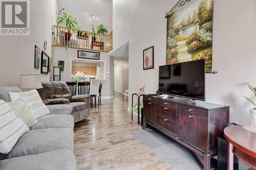
[[[194,140],[194,118],[193,114],[178,110],[177,111],[177,135],[193,142]]]

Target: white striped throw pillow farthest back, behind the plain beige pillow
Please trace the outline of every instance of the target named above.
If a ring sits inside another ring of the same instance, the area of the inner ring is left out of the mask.
[[[46,107],[40,98],[37,90],[25,91],[20,93],[9,92],[12,102],[15,102],[19,98],[26,101],[29,110],[32,112],[35,118],[49,114],[49,109]]]

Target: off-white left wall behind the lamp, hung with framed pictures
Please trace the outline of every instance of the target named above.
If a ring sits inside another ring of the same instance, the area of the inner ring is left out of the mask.
[[[34,68],[34,46],[44,50],[44,41],[48,47],[45,51],[51,57],[51,27],[55,25],[55,0],[30,1],[30,35],[0,36],[0,86],[19,86],[20,74],[40,74]],[[41,81],[49,81],[48,76],[41,75]]]

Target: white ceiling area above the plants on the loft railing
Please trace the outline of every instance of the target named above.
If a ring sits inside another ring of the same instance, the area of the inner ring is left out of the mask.
[[[76,16],[82,30],[92,31],[92,25],[96,29],[102,23],[112,31],[113,0],[57,0],[57,3],[58,9],[65,8],[66,13]]]

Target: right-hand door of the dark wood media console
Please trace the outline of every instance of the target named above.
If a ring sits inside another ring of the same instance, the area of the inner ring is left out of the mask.
[[[194,144],[207,151],[208,119],[194,115]]]

